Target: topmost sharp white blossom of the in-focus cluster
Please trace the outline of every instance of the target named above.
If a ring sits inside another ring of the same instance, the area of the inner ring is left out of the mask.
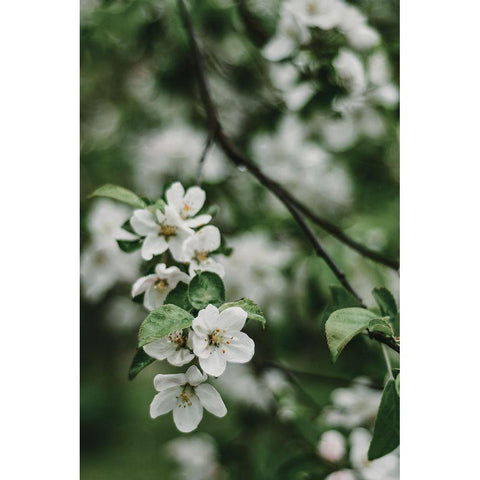
[[[191,228],[201,227],[212,219],[211,215],[197,215],[205,203],[205,191],[190,187],[185,193],[180,182],[175,182],[166,192],[167,203],[180,215],[184,224]]]

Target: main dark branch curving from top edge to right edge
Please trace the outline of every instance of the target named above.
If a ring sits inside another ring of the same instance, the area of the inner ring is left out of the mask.
[[[330,233],[340,242],[349,246],[353,250],[356,250],[358,253],[363,255],[370,260],[373,260],[377,263],[385,265],[394,270],[399,269],[399,262],[397,260],[390,259],[385,257],[381,253],[376,252],[367,248],[365,245],[358,243],[357,241],[350,238],[343,230],[337,227],[335,224],[326,220],[323,217],[315,214],[311,209],[309,209],[302,202],[297,200],[291,193],[289,193],[285,188],[282,187],[278,182],[271,179],[265,175],[256,165],[250,160],[247,156],[243,155],[237,150],[235,145],[225,134],[218,119],[217,109],[213,103],[210,91],[208,88],[207,79],[205,76],[205,67],[203,62],[203,57],[198,47],[196,40],[195,32],[193,25],[190,19],[187,8],[183,0],[178,0],[181,17],[185,29],[187,30],[190,46],[192,49],[193,64],[198,78],[198,85],[200,89],[200,98],[205,107],[208,119],[208,130],[213,134],[214,140],[216,140],[224,151],[225,155],[233,162],[236,166],[244,166],[262,185],[267,187],[274,195],[277,196],[285,205],[290,203],[293,205],[299,212],[308,217],[312,222],[318,225],[320,228]],[[213,133],[216,132],[216,133]]]

